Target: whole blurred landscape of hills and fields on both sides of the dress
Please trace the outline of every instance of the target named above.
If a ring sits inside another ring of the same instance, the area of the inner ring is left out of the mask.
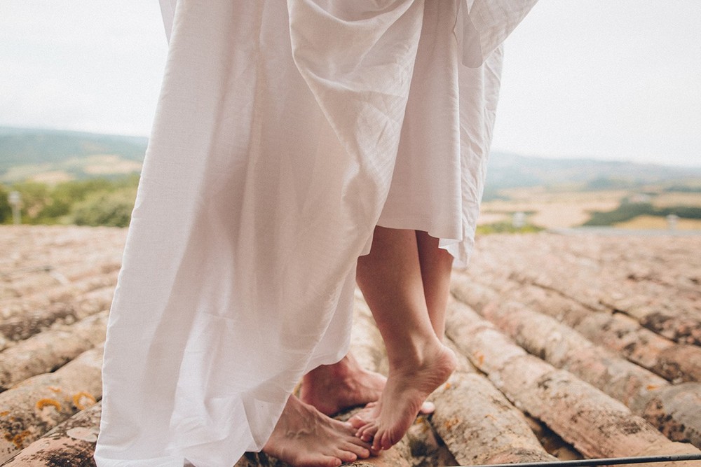
[[[148,140],[0,127],[0,223],[128,225]],[[670,223],[672,225],[670,225]],[[494,152],[479,230],[609,226],[701,231],[701,167]]]

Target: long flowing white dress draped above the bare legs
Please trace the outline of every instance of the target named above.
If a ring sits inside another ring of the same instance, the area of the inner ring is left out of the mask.
[[[348,348],[375,225],[465,264],[505,36],[535,0],[162,0],[161,99],[95,459],[231,466]]]

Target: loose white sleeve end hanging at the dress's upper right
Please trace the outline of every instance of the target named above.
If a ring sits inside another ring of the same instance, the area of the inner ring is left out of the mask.
[[[455,34],[465,67],[480,67],[538,0],[462,0]]]

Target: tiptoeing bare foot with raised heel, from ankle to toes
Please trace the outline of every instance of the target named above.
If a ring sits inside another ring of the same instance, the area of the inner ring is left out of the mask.
[[[404,361],[390,367],[390,377],[376,405],[356,414],[350,422],[356,436],[372,440],[372,449],[389,449],[414,423],[421,404],[455,369],[453,351],[442,344],[426,353],[422,361]]]

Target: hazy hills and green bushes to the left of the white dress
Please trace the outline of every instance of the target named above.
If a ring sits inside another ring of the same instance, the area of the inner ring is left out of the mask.
[[[107,134],[0,127],[0,223],[124,227],[148,140]]]

